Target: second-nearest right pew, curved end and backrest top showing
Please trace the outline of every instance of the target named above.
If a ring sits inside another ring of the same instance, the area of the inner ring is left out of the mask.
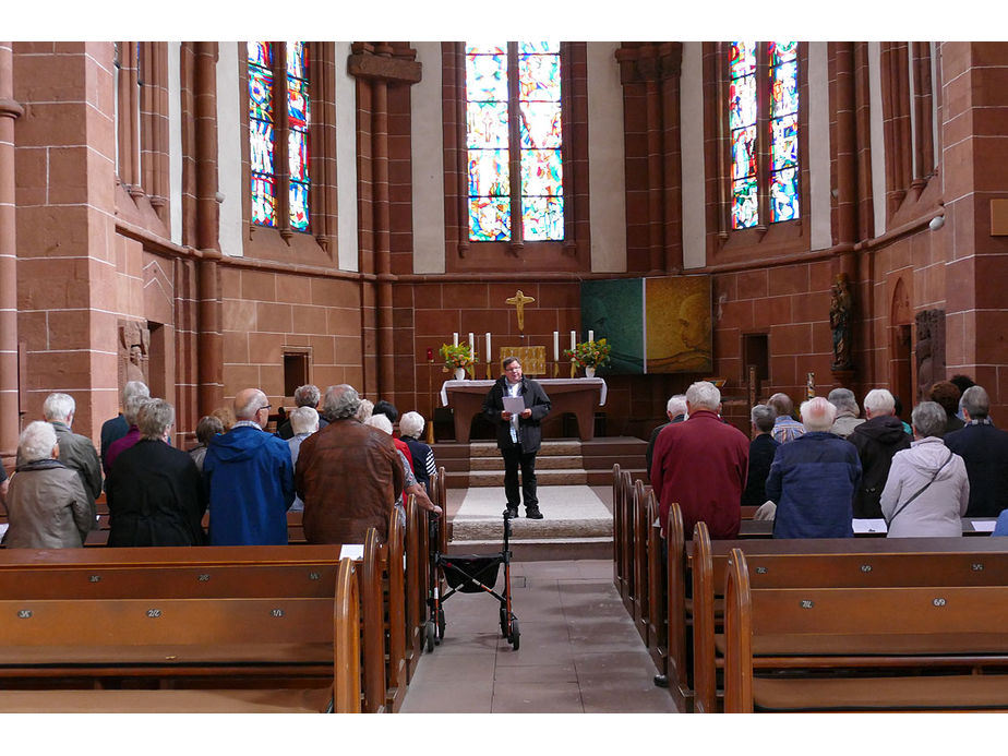
[[[698,523],[689,572],[693,585],[695,705],[718,710],[717,671],[723,667],[723,614],[729,555],[743,548],[756,588],[879,588],[1008,585],[1008,543],[997,539],[779,539],[710,541]]]

